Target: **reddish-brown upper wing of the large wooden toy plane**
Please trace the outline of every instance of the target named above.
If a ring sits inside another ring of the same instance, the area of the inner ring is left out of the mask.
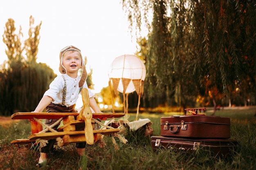
[[[46,112],[17,112],[11,115],[12,119],[59,119],[67,116],[78,116],[79,113],[46,113]],[[125,113],[92,113],[92,118],[120,118],[125,116]]]

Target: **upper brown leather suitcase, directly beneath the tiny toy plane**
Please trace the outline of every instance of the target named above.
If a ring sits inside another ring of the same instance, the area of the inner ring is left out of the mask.
[[[161,118],[161,135],[186,138],[230,138],[230,118],[184,115]]]

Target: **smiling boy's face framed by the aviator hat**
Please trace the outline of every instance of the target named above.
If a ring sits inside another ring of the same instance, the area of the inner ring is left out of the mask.
[[[69,73],[78,73],[81,68],[82,59],[78,51],[67,51],[63,54],[63,66]]]

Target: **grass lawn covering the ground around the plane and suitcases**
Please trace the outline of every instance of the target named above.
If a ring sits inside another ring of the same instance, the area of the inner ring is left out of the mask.
[[[111,136],[104,137],[105,148],[97,144],[88,145],[85,156],[79,157],[74,144],[58,147],[49,154],[47,164],[36,166],[38,147],[10,144],[14,139],[27,138],[30,133],[28,120],[20,120],[9,128],[0,126],[0,169],[1,170],[254,170],[256,169],[256,107],[243,109],[224,109],[215,116],[231,118],[231,139],[239,142],[239,147],[231,157],[220,159],[203,148],[186,153],[168,149],[153,150],[150,137],[144,137],[144,131],[126,134],[127,144],[116,139],[119,149],[115,149]],[[207,109],[208,110],[208,109]],[[153,122],[153,135],[160,135],[160,118],[179,113],[141,113],[139,118],[148,118]],[[211,114],[211,109],[206,115]],[[129,121],[135,120],[135,114],[129,114]]]

